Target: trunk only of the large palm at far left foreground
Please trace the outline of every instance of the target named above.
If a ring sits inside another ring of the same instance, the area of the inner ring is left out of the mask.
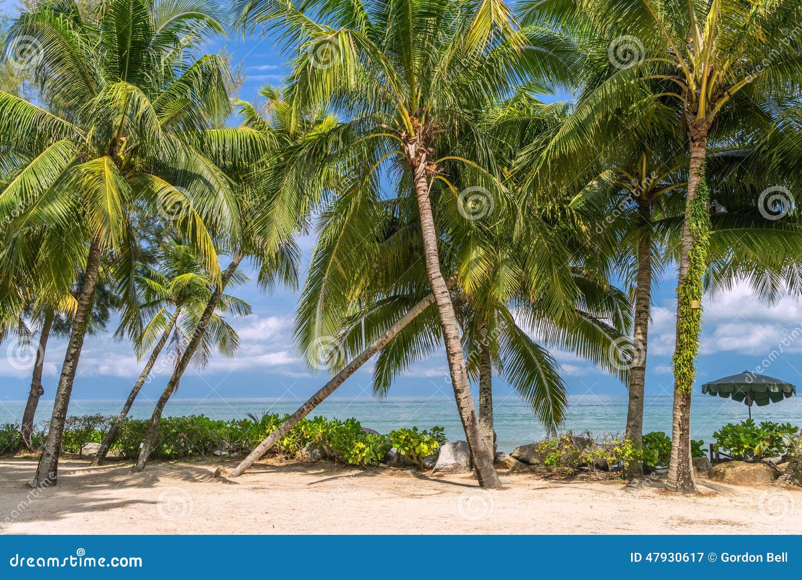
[[[67,408],[70,404],[72,384],[75,382],[75,371],[78,369],[78,360],[83,348],[83,339],[87,335],[87,328],[89,327],[99,269],[100,241],[97,238],[92,238],[87,256],[87,267],[83,270],[83,284],[78,297],[78,306],[72,319],[70,340],[67,343],[67,352],[64,355],[64,363],[61,367],[59,386],[55,391],[53,414],[51,415],[50,429],[47,432],[45,450],[39,458],[36,474],[30,482],[32,487],[57,485],[59,483],[59,452],[61,452],[61,440],[64,436],[64,422],[67,420]]]

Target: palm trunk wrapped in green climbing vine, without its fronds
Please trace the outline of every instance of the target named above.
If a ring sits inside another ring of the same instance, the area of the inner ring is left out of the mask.
[[[691,391],[695,379],[695,359],[699,352],[703,262],[707,257],[698,239],[699,228],[707,216],[707,186],[704,185],[704,163],[707,150],[707,126],[691,130],[691,163],[688,172],[688,193],[685,204],[683,239],[679,254],[677,283],[677,332],[674,347],[674,408],[671,432],[671,460],[666,489],[679,493],[695,493],[696,478],[691,461]],[[702,190],[703,197],[699,197]],[[709,219],[709,217],[708,217]],[[694,306],[697,306],[696,308]]]

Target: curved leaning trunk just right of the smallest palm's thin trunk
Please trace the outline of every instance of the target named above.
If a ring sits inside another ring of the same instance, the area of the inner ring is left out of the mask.
[[[172,392],[176,390],[176,387],[181,379],[181,375],[184,375],[184,371],[186,371],[187,367],[189,366],[189,361],[192,359],[192,355],[195,354],[197,347],[201,345],[203,333],[206,331],[206,326],[209,324],[212,314],[214,314],[214,309],[217,308],[217,303],[220,302],[220,298],[223,295],[223,290],[225,290],[225,286],[229,283],[229,279],[237,270],[237,266],[239,266],[240,262],[242,262],[242,258],[244,258],[242,253],[237,253],[237,255],[234,256],[233,260],[229,264],[229,267],[223,271],[220,284],[214,289],[212,296],[209,298],[209,302],[206,303],[206,308],[203,311],[203,314],[201,314],[201,320],[198,322],[197,329],[192,335],[192,339],[189,341],[186,350],[184,350],[184,354],[181,355],[176,368],[172,371],[172,376],[167,383],[167,387],[164,387],[164,391],[162,391],[159,400],[156,402],[156,408],[153,409],[153,415],[151,416],[150,424],[148,424],[148,432],[145,435],[142,448],[140,448],[140,456],[136,460],[136,464],[133,466],[132,471],[143,471],[145,465],[148,464],[148,456],[150,456],[153,448],[156,446],[156,438],[159,436],[159,424],[161,422],[161,413],[164,411],[164,405],[167,404],[167,401],[172,396]]]

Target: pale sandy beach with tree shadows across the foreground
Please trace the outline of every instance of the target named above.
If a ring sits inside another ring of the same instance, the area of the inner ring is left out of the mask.
[[[0,460],[2,533],[800,533],[802,490],[723,485],[675,496],[622,481],[504,473],[429,476],[330,462],[255,464],[230,480],[213,463],[91,468],[63,460],[59,485],[31,490],[32,460]]]

